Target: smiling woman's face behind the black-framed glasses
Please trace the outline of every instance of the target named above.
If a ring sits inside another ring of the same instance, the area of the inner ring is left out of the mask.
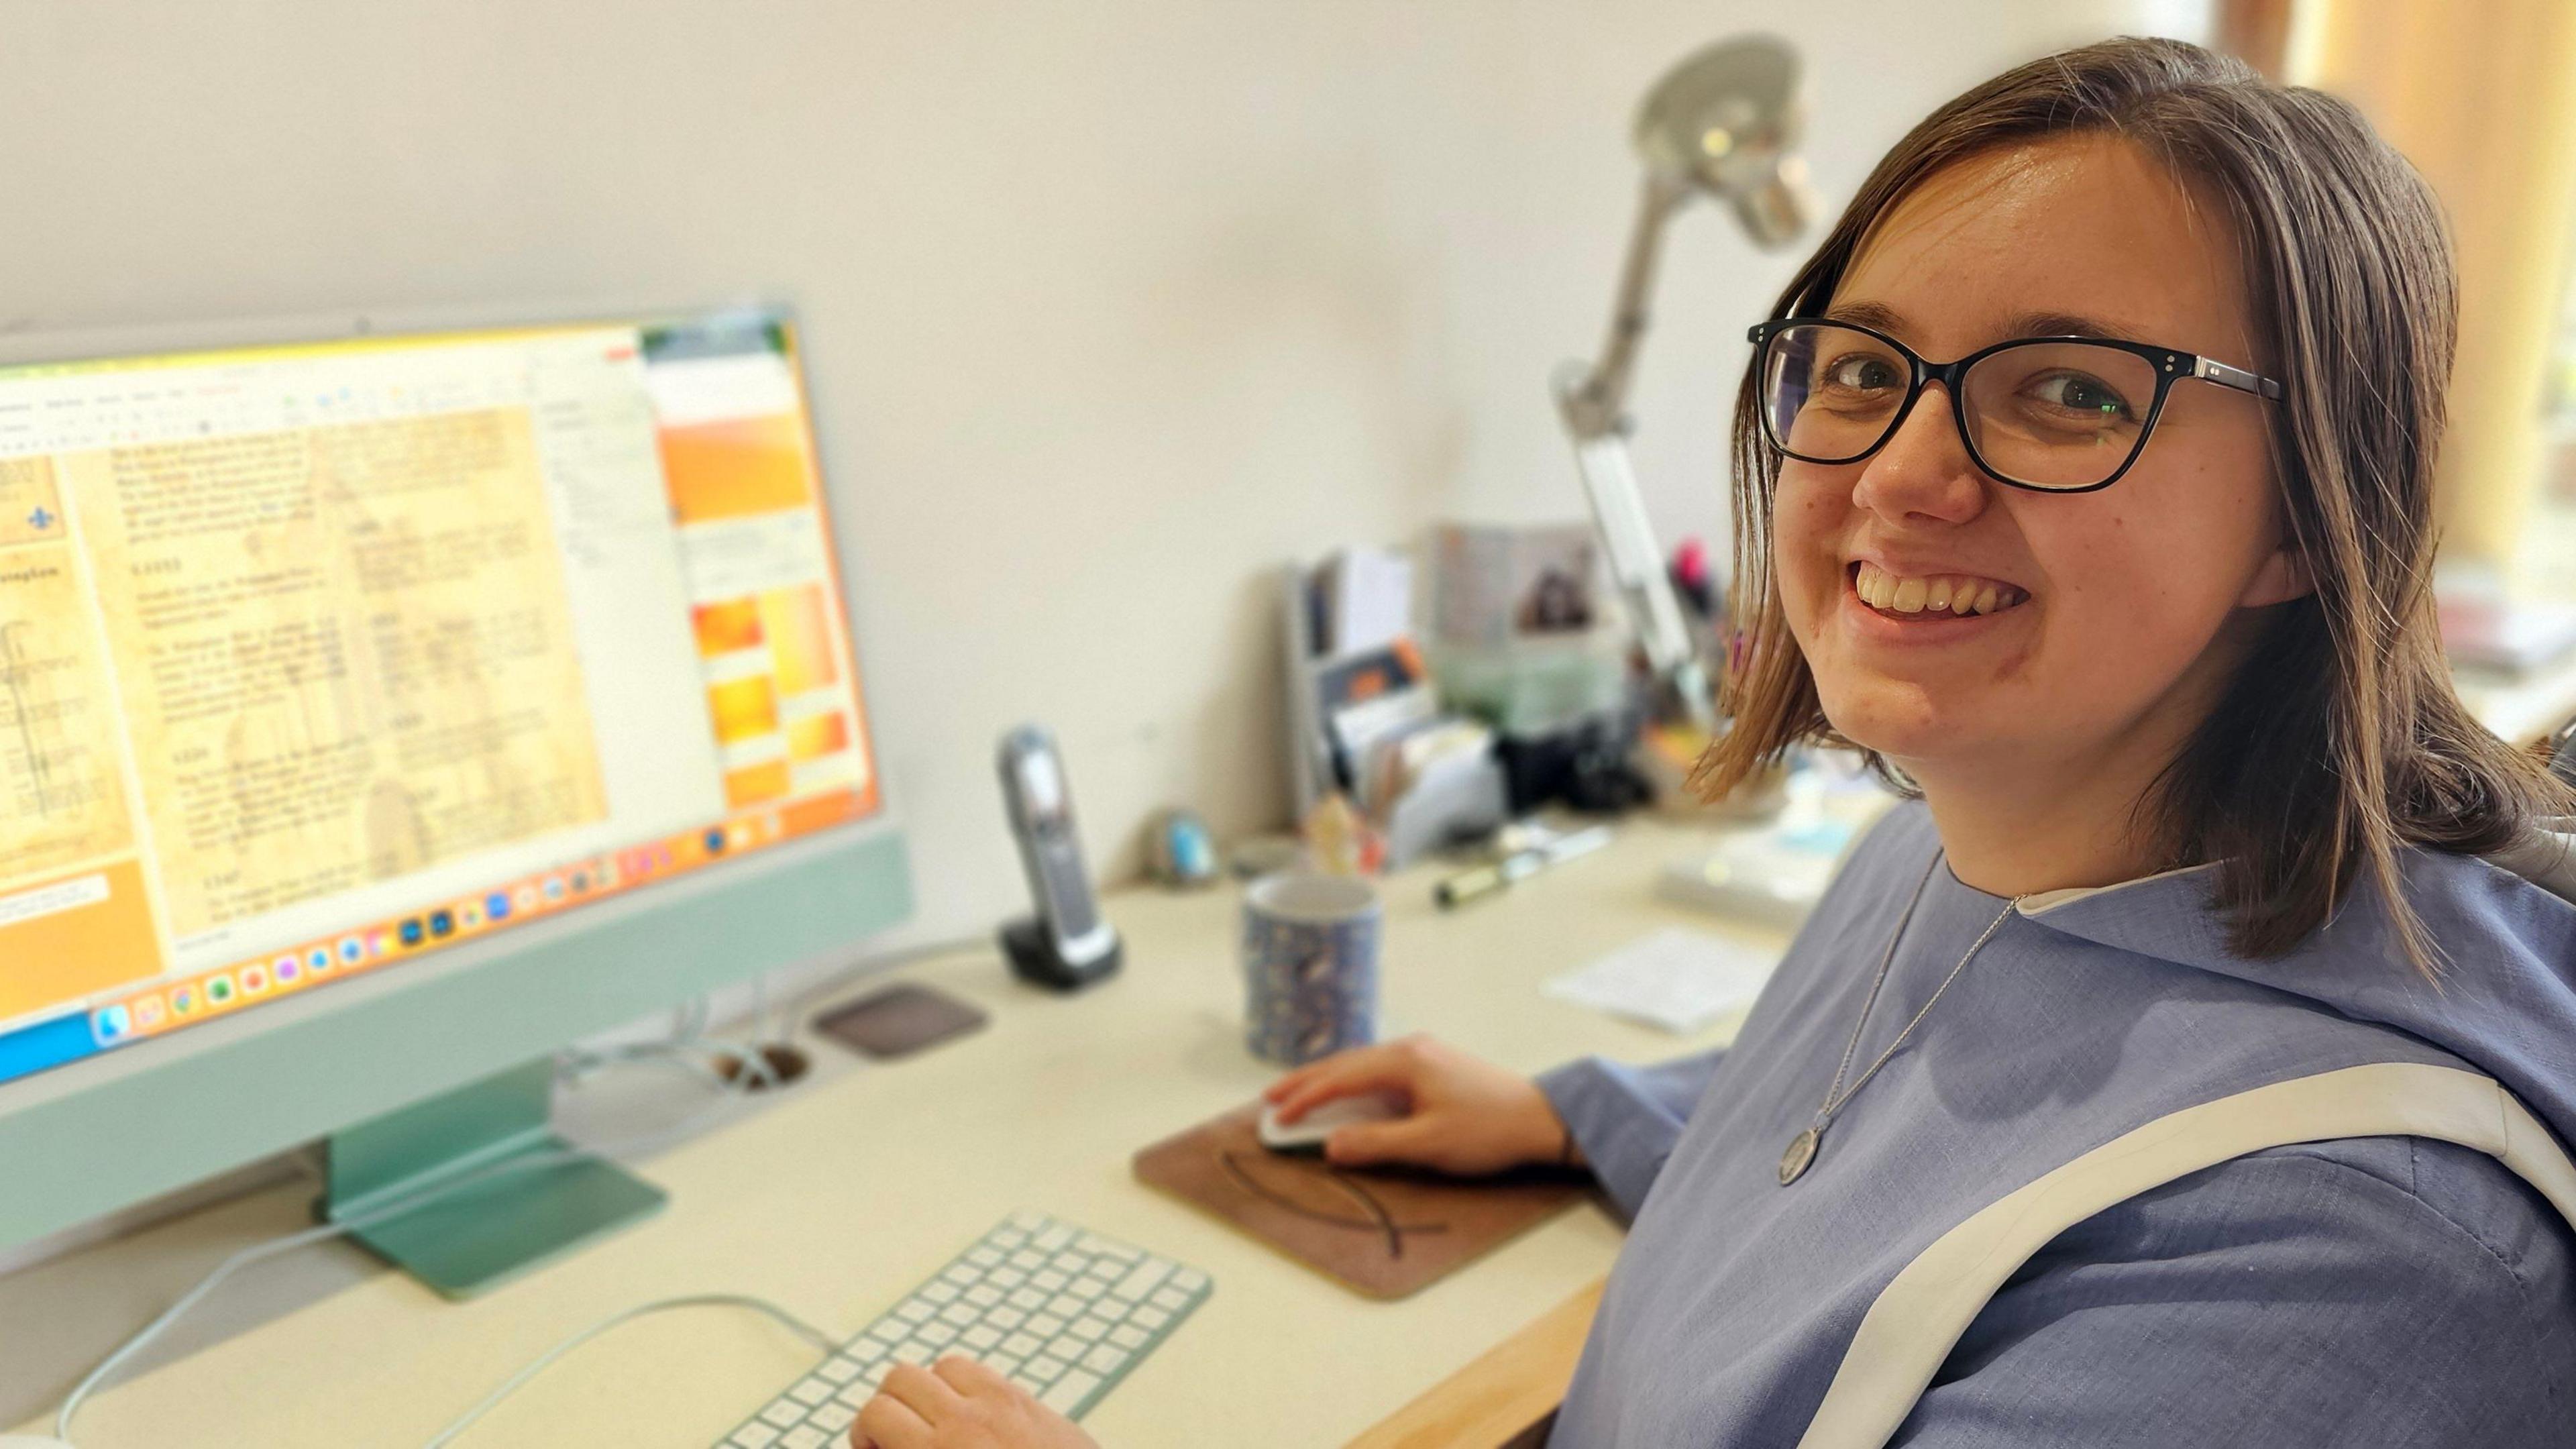
[[[2094,330],[2269,374],[2236,276],[2221,214],[2195,214],[2151,157],[2112,137],[2048,139],[1927,178],[1862,242],[1826,315],[1932,361]],[[2146,451],[2099,492],[1989,480],[1932,387],[1862,462],[1783,459],[1780,596],[1826,719],[1927,789],[2040,784],[2128,755],[2161,768],[2239,657],[2241,611],[2300,593],[2267,407],[2177,382]],[[1973,598],[1958,578],[2022,601],[1924,606],[1942,593],[1932,580]]]

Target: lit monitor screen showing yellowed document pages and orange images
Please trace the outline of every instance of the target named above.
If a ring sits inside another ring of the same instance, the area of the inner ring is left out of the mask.
[[[783,315],[0,369],[0,1080],[876,810]]]

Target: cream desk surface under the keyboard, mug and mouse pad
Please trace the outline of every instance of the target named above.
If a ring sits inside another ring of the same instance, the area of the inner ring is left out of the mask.
[[[1633,820],[1605,851],[1455,913],[1430,905],[1437,871],[1394,877],[1381,1021],[1437,1029],[1520,1070],[1587,1052],[1656,1060],[1731,1039],[1739,1018],[1674,1039],[1538,993],[1548,975],[1662,926],[1785,946],[1780,933],[1651,897],[1654,871],[1708,841],[1710,830]],[[1216,1297],[1092,1413],[1087,1428],[1103,1444],[1345,1444],[1610,1269],[1620,1227],[1579,1207],[1381,1305],[1139,1186],[1136,1147],[1247,1101],[1273,1073],[1239,1036],[1239,890],[1131,890],[1105,905],[1128,941],[1113,982],[1041,995],[992,957],[894,972],[976,1000],[992,1026],[912,1062],[814,1080],[647,1160],[641,1171],[672,1194],[665,1214],[484,1299],[448,1305],[376,1271],[113,1387],[82,1410],[82,1444],[420,1444],[564,1336],[647,1299],[744,1292],[850,1333],[1018,1207],[1216,1279]],[[216,1232],[219,1217],[175,1220],[0,1281],[0,1310],[13,1292],[88,1281],[142,1323],[160,1302],[134,1281]],[[250,1284],[222,1292],[237,1287]],[[5,1318],[26,1323],[26,1305],[15,1310]],[[809,1364],[806,1346],[750,1312],[657,1315],[585,1346],[466,1444],[698,1449]]]

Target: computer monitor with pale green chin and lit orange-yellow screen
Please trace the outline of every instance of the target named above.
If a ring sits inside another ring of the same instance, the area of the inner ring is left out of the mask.
[[[314,1137],[381,1204],[909,913],[783,312],[265,333],[0,353],[0,1245]],[[425,1276],[659,1201],[587,1168]]]

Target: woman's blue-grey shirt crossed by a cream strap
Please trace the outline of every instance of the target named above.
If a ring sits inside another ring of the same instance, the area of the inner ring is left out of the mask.
[[[1731,1052],[1540,1078],[1633,1220],[1551,1444],[1795,1444],[1860,1315],[1924,1245],[2200,1101],[2432,1062],[2494,1075],[2576,1140],[2576,905],[2486,861],[2409,851],[2409,900],[2450,957],[2442,990],[2398,959],[2367,895],[2290,957],[2246,962],[2208,910],[2208,871],[2084,892],[2007,915],[1780,1186],[1780,1150],[1824,1101],[1917,882],[1852,1075],[2009,908],[1937,848],[1922,804],[1893,810]],[[2576,1235],[2509,1168],[2450,1142],[2233,1158],[2043,1248],[1893,1444],[2571,1449]]]

